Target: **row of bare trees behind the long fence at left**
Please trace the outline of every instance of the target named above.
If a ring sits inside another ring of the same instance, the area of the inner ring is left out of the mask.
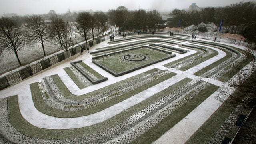
[[[45,42],[59,46],[62,50],[69,50],[74,46],[74,33],[77,32],[87,43],[88,38],[94,39],[95,30],[103,36],[108,27],[108,16],[103,12],[80,12],[76,22],[67,22],[60,15],[52,12],[49,16],[50,22],[45,22],[42,15],[31,15],[25,18],[25,24],[16,22],[13,18],[0,18],[0,56],[4,50],[13,51],[18,63],[20,58],[18,52],[24,48],[39,42],[45,52]],[[0,57],[2,60],[2,57]]]

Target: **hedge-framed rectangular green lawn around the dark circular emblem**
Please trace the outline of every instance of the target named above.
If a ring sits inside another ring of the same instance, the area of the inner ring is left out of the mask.
[[[133,54],[133,53],[147,56],[148,60],[143,60],[140,62],[132,62],[132,61],[124,61],[121,59],[121,56],[124,56],[126,54]],[[170,56],[170,54],[166,54],[158,50],[152,50],[149,48],[140,48],[140,49],[130,50],[127,52],[122,52],[119,54],[114,54],[104,58],[98,58],[98,59],[95,59],[94,61],[97,62],[98,64],[101,64],[105,68],[112,70],[115,73],[120,73],[126,70],[137,68],[144,64],[152,63],[157,60],[167,58],[168,56]]]

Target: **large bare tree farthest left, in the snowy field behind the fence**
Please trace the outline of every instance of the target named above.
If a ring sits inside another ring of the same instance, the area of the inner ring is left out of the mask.
[[[29,44],[28,32],[10,18],[0,18],[0,47],[13,51],[20,65],[18,51]]]

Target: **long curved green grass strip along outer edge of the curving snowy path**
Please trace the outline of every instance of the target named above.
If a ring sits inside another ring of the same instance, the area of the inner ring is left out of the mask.
[[[158,92],[154,96],[128,108],[127,110],[113,116],[112,118],[100,122],[98,124],[94,124],[92,126],[86,126],[83,128],[75,128],[75,129],[64,129],[64,130],[51,130],[38,128],[27,122],[22,115],[20,114],[19,106],[18,106],[18,96],[8,97],[8,119],[12,126],[16,128],[19,132],[26,136],[30,136],[32,138],[41,138],[41,139],[67,139],[67,138],[77,138],[81,136],[88,136],[91,134],[96,134],[98,132],[104,131],[108,128],[115,126],[116,124],[126,120],[128,117],[132,116],[134,113],[143,110],[150,104],[153,104],[157,100],[160,100],[164,96],[174,92],[176,89],[184,86],[186,83],[190,82],[191,79],[185,78],[180,80],[176,84]],[[34,102],[37,103],[37,102]],[[43,102],[44,103],[44,102]],[[49,107],[49,110],[52,108]]]

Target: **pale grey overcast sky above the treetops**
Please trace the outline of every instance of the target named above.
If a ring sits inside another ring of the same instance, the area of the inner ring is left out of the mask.
[[[118,6],[126,6],[128,10],[157,9],[160,12],[171,11],[174,8],[188,8],[192,3],[199,7],[226,6],[238,2],[256,0],[0,0],[0,15],[4,13],[44,14],[49,10],[56,13],[65,13],[68,9],[75,10],[101,10],[108,11]]]

